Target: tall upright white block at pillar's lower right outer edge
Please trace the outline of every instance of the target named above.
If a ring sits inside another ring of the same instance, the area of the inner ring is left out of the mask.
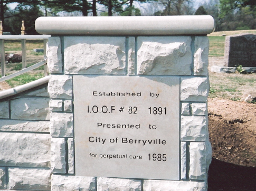
[[[206,164],[205,142],[191,142],[189,146],[189,178],[193,180],[206,180],[208,169]]]

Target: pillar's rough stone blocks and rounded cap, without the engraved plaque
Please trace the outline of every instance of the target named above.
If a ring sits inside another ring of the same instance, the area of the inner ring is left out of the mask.
[[[56,25],[62,29],[56,31]],[[48,42],[52,190],[207,190],[212,151],[207,129],[206,34],[213,27],[211,16],[37,19],[38,32],[54,35]],[[177,79],[177,178],[76,176],[80,167],[74,153],[79,144],[74,133],[74,79],[95,75]]]

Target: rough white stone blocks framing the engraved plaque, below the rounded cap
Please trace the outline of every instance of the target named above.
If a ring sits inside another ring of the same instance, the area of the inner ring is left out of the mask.
[[[207,190],[208,46],[206,36],[50,37],[51,189]],[[179,77],[180,181],[75,176],[72,78],[81,74]]]

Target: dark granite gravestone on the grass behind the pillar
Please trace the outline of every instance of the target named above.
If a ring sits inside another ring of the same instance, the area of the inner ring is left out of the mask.
[[[226,36],[224,64],[228,67],[256,67],[256,35]]]

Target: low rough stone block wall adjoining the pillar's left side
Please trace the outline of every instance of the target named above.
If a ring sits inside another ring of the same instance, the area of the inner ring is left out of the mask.
[[[51,190],[47,84],[0,100],[0,190]]]

